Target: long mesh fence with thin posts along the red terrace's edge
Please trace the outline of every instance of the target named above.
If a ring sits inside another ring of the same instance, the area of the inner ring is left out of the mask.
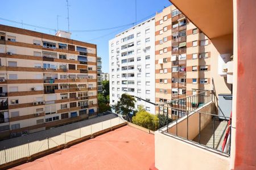
[[[82,122],[35,132],[0,142],[0,165],[31,156],[120,125],[122,117],[109,114]]]

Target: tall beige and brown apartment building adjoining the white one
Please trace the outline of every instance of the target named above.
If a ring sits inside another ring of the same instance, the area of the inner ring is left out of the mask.
[[[219,55],[207,36],[174,5],[156,14],[156,103],[192,96],[204,89],[214,90],[216,98],[220,93],[231,93],[231,85],[218,75],[218,60],[211,60],[212,54]],[[163,107],[156,107],[156,113],[159,109],[163,113]]]

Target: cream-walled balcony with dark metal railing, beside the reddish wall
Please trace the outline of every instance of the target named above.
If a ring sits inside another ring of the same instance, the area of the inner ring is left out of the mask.
[[[168,107],[163,114],[170,121],[160,121],[163,126],[155,131],[155,154],[162,155],[155,159],[159,169],[166,169],[162,165],[173,169],[205,169],[207,165],[202,167],[197,160],[208,161],[212,164],[209,167],[221,162],[222,167],[216,169],[229,169],[231,121],[216,114],[211,91],[173,100],[164,107]],[[196,155],[195,159],[191,153]],[[177,157],[187,163],[175,164]]]

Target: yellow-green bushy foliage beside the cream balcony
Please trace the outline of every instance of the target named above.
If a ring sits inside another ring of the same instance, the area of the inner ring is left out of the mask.
[[[137,114],[133,117],[133,123],[150,130],[158,129],[158,116],[148,113],[142,107],[138,109]]]

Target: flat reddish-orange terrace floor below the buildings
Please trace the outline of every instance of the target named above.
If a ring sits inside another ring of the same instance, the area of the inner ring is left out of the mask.
[[[124,126],[13,169],[149,169],[154,135]]]

